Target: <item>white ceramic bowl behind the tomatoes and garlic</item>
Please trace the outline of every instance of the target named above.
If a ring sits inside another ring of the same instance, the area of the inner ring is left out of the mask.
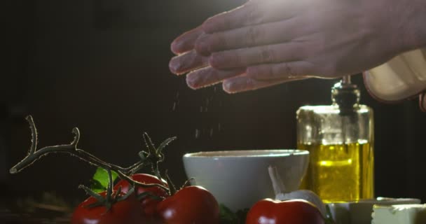
[[[263,198],[274,198],[268,167],[277,167],[287,191],[297,190],[308,168],[309,152],[301,150],[250,150],[188,153],[186,176],[193,185],[209,190],[233,211],[248,209]]]

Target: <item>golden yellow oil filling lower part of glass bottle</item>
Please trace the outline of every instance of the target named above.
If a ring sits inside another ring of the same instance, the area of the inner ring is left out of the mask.
[[[347,202],[374,197],[373,148],[367,141],[350,144],[298,144],[310,152],[301,188],[324,202]]]

